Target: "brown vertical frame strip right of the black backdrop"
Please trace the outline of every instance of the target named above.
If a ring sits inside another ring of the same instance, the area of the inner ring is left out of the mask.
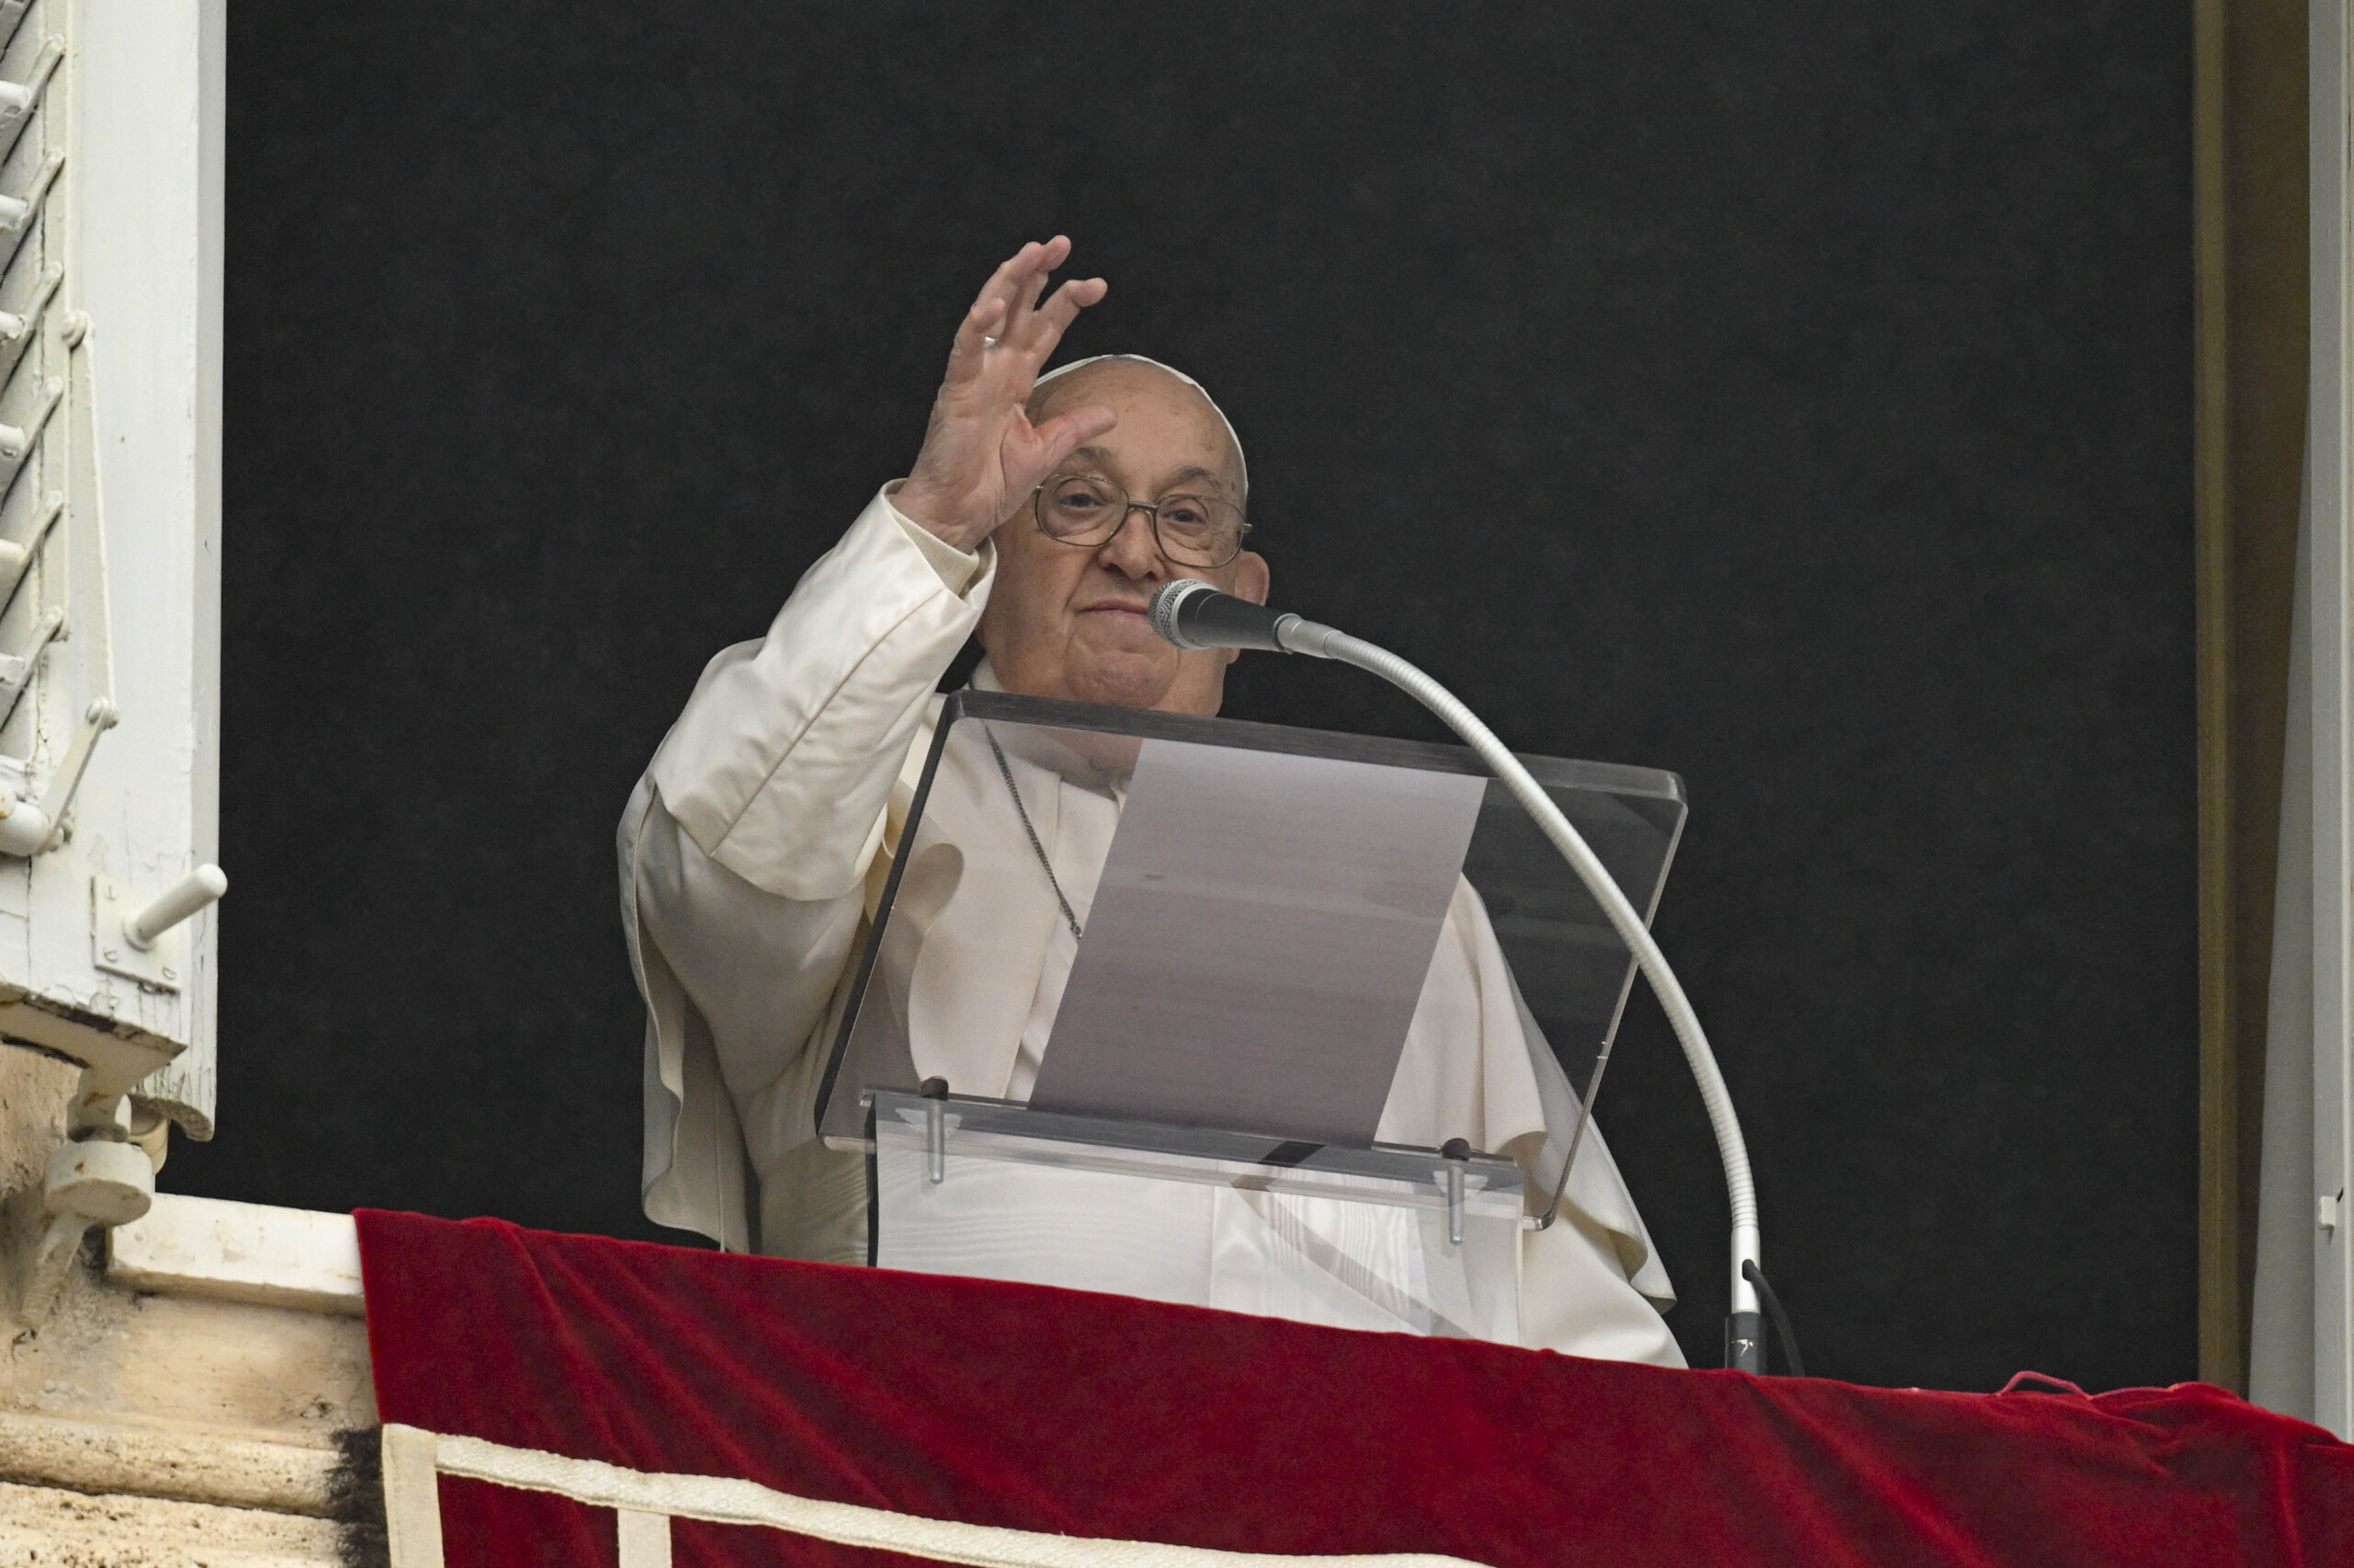
[[[2307,405],[2307,38],[2194,0],[2199,1377],[2248,1387],[2265,1015]]]

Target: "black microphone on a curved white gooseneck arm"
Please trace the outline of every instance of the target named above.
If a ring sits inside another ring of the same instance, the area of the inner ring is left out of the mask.
[[[1530,777],[1521,758],[1481,723],[1478,713],[1387,647],[1351,638],[1335,626],[1219,593],[1191,577],[1170,582],[1153,593],[1151,614],[1153,631],[1177,647],[1262,647],[1309,655],[1314,659],[1339,659],[1342,664],[1370,671],[1445,720],[1495,770],[1495,777],[1504,779],[1504,786],[1537,822],[1537,829],[1561,850],[1570,869],[1577,871],[1577,881],[1603,906],[1612,930],[1617,930],[1643,968],[1643,979],[1650,982],[1653,994],[1660,998],[1660,1008],[1667,1012],[1667,1022],[1683,1045],[1683,1059],[1700,1083],[1700,1099],[1709,1111],[1709,1128],[1716,1132],[1716,1154],[1725,1163],[1725,1191],[1733,1198],[1733,1316],[1725,1318],[1725,1366],[1744,1373],[1763,1373],[1766,1326],[1758,1316],[1756,1285],[1749,1283],[1742,1264],[1763,1271],[1766,1260],[1758,1231],[1756,1184],[1749,1177],[1749,1144],[1742,1140],[1740,1116],[1733,1114],[1733,1092],[1725,1088],[1725,1076],[1716,1069],[1716,1052],[1709,1050],[1709,1036],[1700,1029],[1700,1015],[1693,1012],[1693,1003],[1676,982],[1676,972],[1667,965],[1667,954],[1653,942],[1643,916],[1620,892],[1617,881],[1587,845],[1584,836],[1561,815],[1561,808]]]

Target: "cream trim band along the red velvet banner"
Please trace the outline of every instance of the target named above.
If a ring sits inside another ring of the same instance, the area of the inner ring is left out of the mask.
[[[791,1530],[843,1547],[899,1552],[932,1563],[967,1563],[970,1568],[1481,1568],[1459,1556],[1398,1552],[1377,1556],[1274,1556],[1264,1552],[1212,1552],[1208,1547],[1170,1547],[1151,1540],[1099,1540],[1090,1535],[1045,1535],[1040,1530],[1005,1530],[953,1519],[892,1514],[850,1502],[793,1497],[753,1481],[730,1476],[671,1476],[621,1469],[598,1460],[567,1460],[534,1448],[506,1448],[468,1436],[440,1436],[388,1422],[386,1457],[417,1455],[431,1441],[433,1469],[410,1460],[384,1467],[386,1519],[410,1523],[393,1530],[393,1568],[440,1568],[440,1504],[433,1471],[468,1481],[494,1481],[532,1493],[556,1493],[588,1507],[669,1519],[709,1519],[711,1523]],[[421,1495],[419,1495],[421,1488]],[[424,1514],[431,1511],[431,1526]],[[643,1535],[640,1535],[643,1540]],[[426,1556],[431,1552],[431,1556]],[[643,1559],[640,1559],[643,1561]]]

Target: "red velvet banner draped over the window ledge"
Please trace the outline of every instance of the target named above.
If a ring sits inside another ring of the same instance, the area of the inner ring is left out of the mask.
[[[2354,1563],[2354,1448],[2220,1389],[1669,1373],[360,1210],[386,1422],[1057,1535],[1580,1563]],[[440,1479],[445,1552],[614,1511]],[[673,1521],[680,1568],[906,1563]],[[932,1559],[937,1561],[937,1559]]]

